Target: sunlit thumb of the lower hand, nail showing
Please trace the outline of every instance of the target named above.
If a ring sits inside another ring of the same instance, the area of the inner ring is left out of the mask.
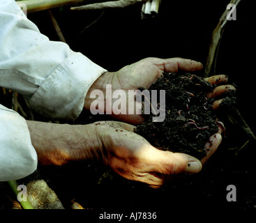
[[[157,150],[156,153],[155,171],[160,174],[197,174],[202,169],[202,163],[191,155],[160,150]]]

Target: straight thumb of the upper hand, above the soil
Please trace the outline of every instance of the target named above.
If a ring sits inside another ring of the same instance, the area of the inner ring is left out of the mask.
[[[195,72],[202,70],[202,63],[183,58],[164,59],[164,68],[166,72],[178,72],[179,70]]]

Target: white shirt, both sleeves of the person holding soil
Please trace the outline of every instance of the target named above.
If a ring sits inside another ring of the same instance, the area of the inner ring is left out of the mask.
[[[0,86],[24,95],[36,112],[74,120],[106,71],[66,43],[50,41],[14,0],[0,0]],[[0,181],[24,178],[36,166],[26,121],[0,106]]]

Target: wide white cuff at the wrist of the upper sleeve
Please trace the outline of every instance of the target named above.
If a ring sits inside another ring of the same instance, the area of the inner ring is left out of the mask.
[[[79,52],[72,52],[40,84],[29,103],[44,116],[75,120],[84,107],[86,93],[106,72]]]

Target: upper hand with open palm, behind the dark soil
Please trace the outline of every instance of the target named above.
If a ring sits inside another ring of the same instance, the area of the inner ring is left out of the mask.
[[[90,94],[93,90],[100,90],[105,94],[106,84],[112,84],[112,92],[116,90],[123,90],[126,93],[126,112],[124,112],[124,114],[114,114],[112,112],[112,116],[126,123],[143,123],[144,118],[141,114],[136,114],[136,112],[133,112],[133,114],[128,114],[128,90],[135,91],[139,87],[149,89],[151,84],[153,84],[153,82],[155,82],[156,79],[158,79],[161,75],[163,75],[163,72],[199,72],[202,70],[202,68],[202,63],[190,59],[142,59],[137,63],[133,63],[121,68],[121,70],[117,72],[105,72],[105,74],[100,76],[96,82],[93,83],[88,93],[86,94],[84,108],[90,109],[91,102],[95,100],[90,98]],[[223,77],[220,77],[218,84],[227,82],[225,75],[222,76]],[[208,81],[211,84],[216,84],[216,78],[211,79],[209,77]],[[219,89],[220,91],[218,91],[218,95],[226,90],[225,87],[220,87],[221,89]],[[112,105],[116,99],[106,101],[106,95],[104,95],[104,97],[105,98],[102,98],[102,102],[104,102],[105,107],[109,106],[112,108]],[[214,95],[209,95],[209,97],[214,97]],[[221,101],[218,101],[216,107],[218,107],[220,102]],[[106,105],[106,103],[108,103],[108,105]],[[105,112],[105,110],[103,112]]]

